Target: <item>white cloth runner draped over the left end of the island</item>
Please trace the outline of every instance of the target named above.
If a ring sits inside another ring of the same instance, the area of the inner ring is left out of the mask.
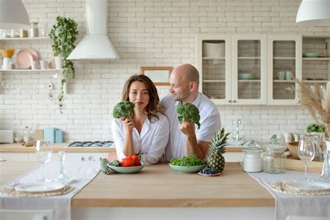
[[[50,162],[46,165],[46,178],[54,180],[58,176],[59,163]],[[0,210],[54,210],[54,220],[70,220],[71,198],[95,178],[100,171],[100,162],[66,162],[65,170],[69,177],[68,184],[74,187],[70,193],[45,197],[15,197],[0,194]],[[41,172],[42,166],[39,166],[1,187],[14,185],[17,180],[19,184],[36,182]]]

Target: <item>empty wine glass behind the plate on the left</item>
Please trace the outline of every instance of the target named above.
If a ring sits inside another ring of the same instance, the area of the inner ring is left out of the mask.
[[[46,179],[45,174],[45,166],[52,158],[52,143],[50,140],[38,140],[36,143],[36,155],[39,162],[42,163],[42,173],[40,182],[51,182],[51,180]]]

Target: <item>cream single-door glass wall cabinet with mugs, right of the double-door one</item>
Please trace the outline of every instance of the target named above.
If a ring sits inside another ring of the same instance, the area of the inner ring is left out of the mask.
[[[291,75],[301,79],[301,36],[267,36],[267,104],[299,104]]]

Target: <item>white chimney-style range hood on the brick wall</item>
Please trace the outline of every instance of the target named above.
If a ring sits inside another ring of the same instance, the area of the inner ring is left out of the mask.
[[[119,59],[107,36],[108,0],[86,0],[86,36],[68,60]]]

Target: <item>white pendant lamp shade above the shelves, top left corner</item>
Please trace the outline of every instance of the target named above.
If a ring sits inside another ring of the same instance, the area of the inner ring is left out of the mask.
[[[21,0],[0,0],[0,29],[24,29],[29,24],[29,15]]]

